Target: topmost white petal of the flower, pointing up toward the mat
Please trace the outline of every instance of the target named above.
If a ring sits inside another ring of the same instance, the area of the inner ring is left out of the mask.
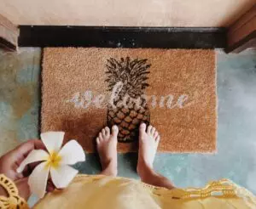
[[[41,133],[41,139],[44,142],[49,153],[61,150],[61,145],[64,139],[64,132],[46,132]]]

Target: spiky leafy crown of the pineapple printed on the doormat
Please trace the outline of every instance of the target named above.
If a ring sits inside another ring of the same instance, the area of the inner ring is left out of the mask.
[[[119,60],[107,59],[108,91],[112,91],[116,83],[121,82],[123,84],[121,96],[125,93],[132,98],[143,95],[143,90],[149,86],[147,80],[151,64],[147,61],[148,59],[131,59],[130,57]]]

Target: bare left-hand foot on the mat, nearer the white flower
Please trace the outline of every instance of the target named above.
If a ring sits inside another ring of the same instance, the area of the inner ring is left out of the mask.
[[[117,176],[117,135],[119,128],[109,127],[102,129],[96,138],[97,150],[102,164],[102,174],[107,176]]]

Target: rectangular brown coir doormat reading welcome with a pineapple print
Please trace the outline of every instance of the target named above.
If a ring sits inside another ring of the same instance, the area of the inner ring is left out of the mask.
[[[216,150],[213,50],[44,48],[42,132],[64,131],[95,151],[102,127],[119,126],[119,152],[137,150],[152,124],[159,151]]]

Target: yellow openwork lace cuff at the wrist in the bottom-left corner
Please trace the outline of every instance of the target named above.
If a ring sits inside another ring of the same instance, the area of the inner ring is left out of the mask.
[[[0,174],[0,187],[3,187],[8,196],[0,196],[0,209],[27,209],[26,201],[19,196],[18,189],[9,178]]]

